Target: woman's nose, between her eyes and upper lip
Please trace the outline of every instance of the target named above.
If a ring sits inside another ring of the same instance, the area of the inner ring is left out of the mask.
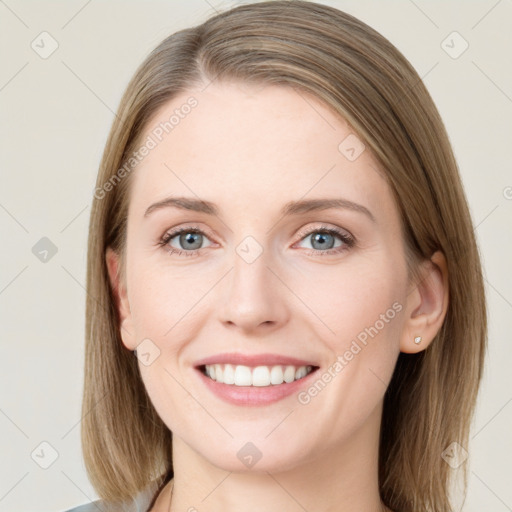
[[[265,251],[252,262],[234,255],[219,297],[219,318],[226,327],[269,333],[286,324],[290,291],[283,284],[284,277],[271,266]]]

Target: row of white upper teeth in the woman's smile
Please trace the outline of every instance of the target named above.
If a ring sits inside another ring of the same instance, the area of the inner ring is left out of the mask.
[[[284,371],[283,371],[284,368]],[[205,374],[223,384],[235,386],[270,386],[293,382],[311,373],[312,366],[256,366],[251,368],[243,365],[207,364]]]

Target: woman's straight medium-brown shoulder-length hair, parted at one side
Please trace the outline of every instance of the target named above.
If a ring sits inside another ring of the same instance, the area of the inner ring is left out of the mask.
[[[445,255],[444,323],[428,348],[400,353],[384,398],[379,489],[394,511],[448,512],[452,470],[442,452],[452,442],[467,448],[487,342],[480,258],[457,164],[406,58],[356,18],[294,0],[242,5],[169,36],[121,100],[89,227],[82,443],[94,488],[106,500],[124,500],[173,476],[171,432],[122,344],[105,252],[125,250],[131,174],[119,171],[148,121],[178,94],[214,80],[292,87],[323,101],[385,171],[409,264],[416,268],[437,250]],[[466,464],[460,469],[466,491]]]

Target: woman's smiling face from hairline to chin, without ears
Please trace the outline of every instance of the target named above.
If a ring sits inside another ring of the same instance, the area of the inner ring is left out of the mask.
[[[259,469],[292,468],[380,421],[408,290],[400,217],[347,123],[291,89],[190,90],[143,140],[191,96],[130,177],[123,343],[139,347],[162,420],[202,457],[241,471],[251,442]],[[242,386],[198,369],[217,355],[213,371]],[[287,382],[299,366],[314,371]]]

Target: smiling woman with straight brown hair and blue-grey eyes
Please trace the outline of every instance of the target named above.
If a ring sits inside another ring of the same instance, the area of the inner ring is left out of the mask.
[[[101,500],[77,511],[445,512],[466,486],[471,218],[431,97],[361,21],[262,2],[165,39],[111,129],[87,274]]]

